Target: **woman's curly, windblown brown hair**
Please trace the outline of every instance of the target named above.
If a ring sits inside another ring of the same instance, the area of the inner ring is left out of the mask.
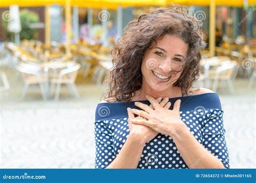
[[[184,11],[185,10],[185,11]],[[199,77],[200,50],[205,48],[201,23],[188,15],[183,6],[158,8],[132,20],[124,29],[112,50],[113,70],[110,73],[107,102],[131,101],[132,96],[142,87],[142,59],[147,48],[156,40],[171,34],[188,44],[183,71],[173,86],[181,88],[183,96]],[[113,99],[114,98],[114,99]]]

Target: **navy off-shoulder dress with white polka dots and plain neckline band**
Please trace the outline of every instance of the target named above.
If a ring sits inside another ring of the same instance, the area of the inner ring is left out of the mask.
[[[180,99],[180,117],[187,128],[208,151],[230,168],[223,126],[223,110],[216,93],[169,98]],[[150,104],[149,101],[140,101]],[[134,101],[99,103],[95,114],[95,168],[105,168],[122,149],[129,126],[127,108],[137,108]],[[170,109],[173,109],[173,105]],[[196,166],[196,162],[195,162]],[[158,133],[144,146],[137,168],[188,168],[171,136]]]

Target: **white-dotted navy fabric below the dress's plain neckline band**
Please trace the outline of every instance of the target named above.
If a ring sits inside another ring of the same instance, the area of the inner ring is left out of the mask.
[[[181,120],[208,151],[230,168],[223,126],[223,110],[180,111]],[[127,117],[95,122],[96,168],[108,166],[122,149],[129,126]],[[173,139],[158,133],[144,146],[137,168],[188,168]]]

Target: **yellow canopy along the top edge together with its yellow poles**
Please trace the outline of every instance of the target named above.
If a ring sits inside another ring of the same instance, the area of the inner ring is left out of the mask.
[[[12,4],[17,4],[19,6],[43,6],[43,5],[51,5],[51,4],[59,4],[65,5],[66,8],[66,45],[70,43],[70,7],[71,6],[78,6],[78,7],[87,7],[87,8],[107,8],[107,9],[118,9],[118,7],[122,6],[126,8],[128,6],[147,6],[147,5],[157,5],[157,6],[165,6],[173,4],[181,4],[181,5],[210,5],[210,55],[214,54],[215,48],[215,6],[216,5],[226,5],[226,6],[237,6],[241,7],[244,5],[244,1],[246,0],[8,0],[8,1],[1,1],[0,7],[10,6]],[[256,0],[247,0],[248,6],[255,5]],[[46,6],[46,14],[49,10],[49,6]],[[49,16],[46,15],[46,20],[49,20]],[[50,27],[49,24],[46,24],[46,43],[50,43]]]

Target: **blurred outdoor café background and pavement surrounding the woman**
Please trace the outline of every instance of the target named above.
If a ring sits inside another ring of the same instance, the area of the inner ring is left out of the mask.
[[[172,3],[203,23],[193,87],[220,96],[231,168],[255,168],[255,0],[1,1],[1,168],[94,168],[111,50],[130,20]]]

